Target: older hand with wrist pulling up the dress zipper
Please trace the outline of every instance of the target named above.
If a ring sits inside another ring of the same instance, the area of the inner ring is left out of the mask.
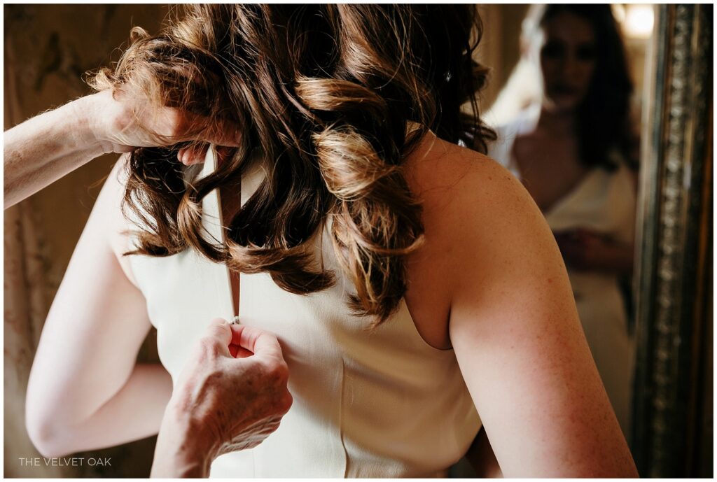
[[[212,321],[174,387],[151,475],[208,476],[214,458],[259,445],[291,406],[287,381],[276,337]]]

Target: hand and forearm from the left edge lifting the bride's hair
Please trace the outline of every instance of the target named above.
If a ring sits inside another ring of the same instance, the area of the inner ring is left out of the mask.
[[[228,120],[152,105],[141,93],[103,90],[4,132],[4,206],[19,203],[103,154],[199,141],[177,154],[189,165],[204,158],[206,143],[237,147],[239,135],[239,126]]]

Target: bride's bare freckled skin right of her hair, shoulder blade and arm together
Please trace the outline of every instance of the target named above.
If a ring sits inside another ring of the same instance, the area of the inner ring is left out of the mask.
[[[406,173],[426,233],[407,306],[429,344],[455,350],[503,474],[637,476],[530,194],[494,160],[430,134]]]

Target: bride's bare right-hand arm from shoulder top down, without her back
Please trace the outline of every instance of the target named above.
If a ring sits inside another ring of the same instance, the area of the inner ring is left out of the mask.
[[[456,191],[450,337],[503,473],[637,476],[537,206],[485,158]]]

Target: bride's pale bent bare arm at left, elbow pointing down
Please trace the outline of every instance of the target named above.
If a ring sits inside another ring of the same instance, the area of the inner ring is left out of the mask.
[[[44,455],[157,433],[171,397],[163,367],[135,365],[151,325],[113,249],[124,227],[117,173],[115,166],[77,243],[30,373],[27,428]]]

